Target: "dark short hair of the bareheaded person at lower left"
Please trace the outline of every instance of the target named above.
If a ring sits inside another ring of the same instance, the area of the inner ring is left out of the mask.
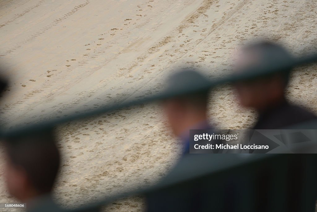
[[[53,131],[12,136],[5,141],[11,163],[26,172],[40,194],[51,192],[60,166],[60,153]]]

